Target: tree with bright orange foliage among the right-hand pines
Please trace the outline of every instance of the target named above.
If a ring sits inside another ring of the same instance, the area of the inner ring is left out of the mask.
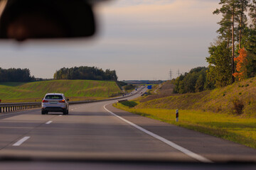
[[[236,71],[237,72],[235,72],[233,74],[233,77],[235,77],[239,81],[242,81],[247,76],[247,68],[246,68],[246,65],[247,65],[247,51],[243,47],[238,52],[239,52],[239,56],[234,58],[234,61],[237,62],[237,65],[236,65]]]

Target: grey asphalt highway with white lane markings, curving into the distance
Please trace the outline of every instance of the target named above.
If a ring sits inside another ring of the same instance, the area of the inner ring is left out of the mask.
[[[256,162],[256,149],[127,113],[114,108],[114,102],[73,105],[69,115],[41,115],[40,109],[0,115],[0,166],[40,169],[49,166],[42,162],[49,161],[57,162],[55,166],[61,163],[62,169],[70,169],[66,162]],[[141,168],[155,169],[156,165]],[[102,164],[88,167],[107,169]]]

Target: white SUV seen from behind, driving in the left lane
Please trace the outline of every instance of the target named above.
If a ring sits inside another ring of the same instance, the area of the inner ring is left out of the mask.
[[[68,115],[68,98],[64,94],[46,94],[42,101],[42,115],[48,112],[62,112]]]

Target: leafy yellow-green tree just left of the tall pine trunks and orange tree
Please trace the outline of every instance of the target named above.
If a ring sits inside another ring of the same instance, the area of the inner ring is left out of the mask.
[[[206,57],[208,62],[208,80],[214,81],[214,86],[223,87],[232,83],[230,61],[231,51],[227,42],[216,42],[216,45],[209,47],[210,57]]]

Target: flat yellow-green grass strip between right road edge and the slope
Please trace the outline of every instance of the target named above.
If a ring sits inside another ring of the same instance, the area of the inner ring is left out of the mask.
[[[242,145],[256,149],[255,118],[241,118],[223,113],[179,110],[179,121],[176,123],[176,110],[174,109],[129,108],[129,106],[122,105],[122,103],[117,103],[117,106],[115,107],[148,118],[161,120],[165,123],[171,123],[233,142],[238,142]]]

